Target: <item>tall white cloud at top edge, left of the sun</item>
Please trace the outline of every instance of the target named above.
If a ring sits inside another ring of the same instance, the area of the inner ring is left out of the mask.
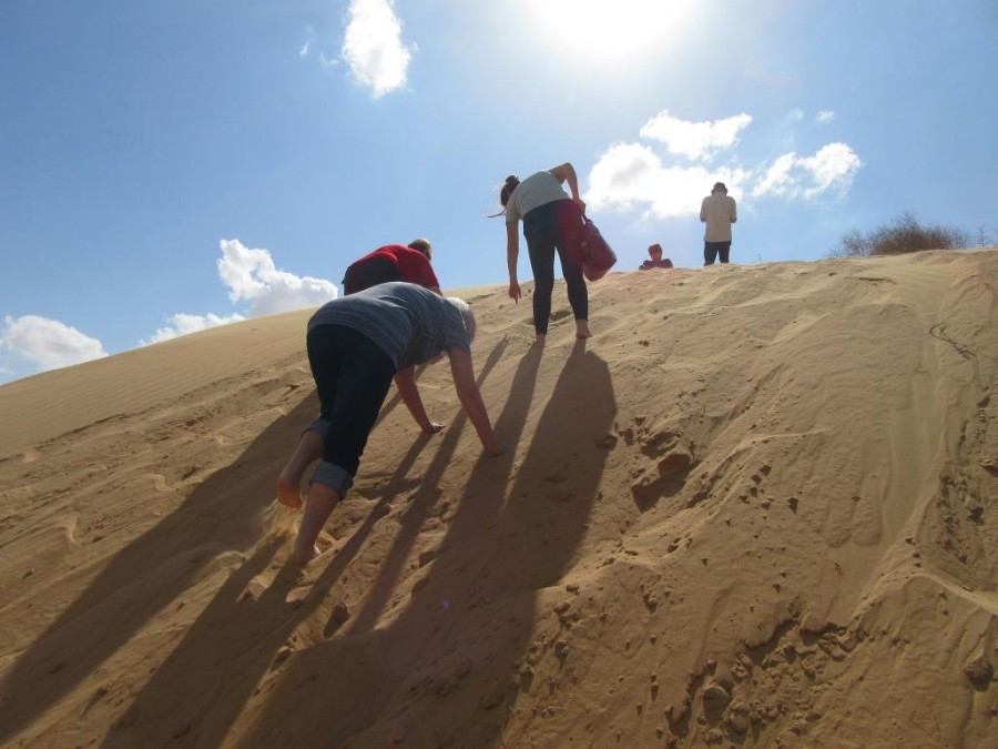
[[[343,42],[350,73],[375,99],[403,88],[413,58],[391,0],[352,0]]]

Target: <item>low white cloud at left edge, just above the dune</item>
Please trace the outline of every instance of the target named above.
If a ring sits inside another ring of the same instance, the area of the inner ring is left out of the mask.
[[[57,370],[106,356],[96,338],[91,338],[58,320],[24,315],[3,318],[0,348],[22,356],[39,372]]]

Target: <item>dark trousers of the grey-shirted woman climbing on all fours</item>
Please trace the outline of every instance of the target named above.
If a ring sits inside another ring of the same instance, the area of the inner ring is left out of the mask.
[[[306,338],[322,418],[329,423],[323,462],[356,475],[395,363],[370,338],[344,325],[318,325]]]

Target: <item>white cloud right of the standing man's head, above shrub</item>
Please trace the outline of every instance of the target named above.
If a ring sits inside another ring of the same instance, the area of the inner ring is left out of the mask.
[[[786,153],[765,170],[752,195],[812,200],[826,192],[844,193],[860,166],[859,156],[845,143],[828,143],[813,156]]]

